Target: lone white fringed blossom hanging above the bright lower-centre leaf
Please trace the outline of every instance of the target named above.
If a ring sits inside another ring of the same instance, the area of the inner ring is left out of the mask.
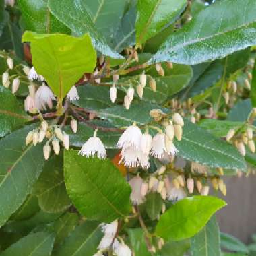
[[[100,140],[100,138],[96,137],[96,132],[94,133],[94,137],[90,137],[86,143],[82,146],[79,154],[82,156],[90,157],[94,156],[97,153],[98,158],[106,158],[106,149]]]

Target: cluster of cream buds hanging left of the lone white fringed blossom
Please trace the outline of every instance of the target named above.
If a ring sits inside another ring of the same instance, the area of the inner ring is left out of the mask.
[[[69,150],[69,135],[61,131],[61,128],[57,126],[49,126],[48,123],[44,120],[40,124],[40,127],[30,131],[26,137],[26,145],[33,143],[36,146],[38,143],[42,143],[44,139],[48,139],[43,147],[44,158],[49,159],[51,154],[51,146],[53,146],[53,151],[56,155],[60,152],[59,143],[62,142],[66,150]]]

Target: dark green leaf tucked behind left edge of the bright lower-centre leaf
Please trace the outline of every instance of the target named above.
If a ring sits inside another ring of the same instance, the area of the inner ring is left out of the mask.
[[[71,205],[64,183],[62,155],[53,156],[46,162],[34,185],[33,194],[37,195],[44,212],[63,212]]]

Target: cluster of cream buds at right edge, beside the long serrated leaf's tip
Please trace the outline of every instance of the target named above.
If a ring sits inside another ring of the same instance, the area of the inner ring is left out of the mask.
[[[239,135],[236,135],[234,129],[230,129],[226,135],[226,141],[232,141],[242,156],[246,154],[245,146],[248,146],[249,150],[255,153],[255,142],[253,141],[253,129],[251,127],[248,127],[245,132]]]

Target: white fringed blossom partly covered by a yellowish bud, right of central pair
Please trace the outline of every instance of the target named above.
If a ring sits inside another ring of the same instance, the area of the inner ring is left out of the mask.
[[[156,158],[163,158],[165,153],[169,156],[174,156],[177,153],[177,148],[172,144],[172,146],[167,150],[165,145],[165,135],[164,133],[156,134],[152,139],[152,149],[151,154]]]

